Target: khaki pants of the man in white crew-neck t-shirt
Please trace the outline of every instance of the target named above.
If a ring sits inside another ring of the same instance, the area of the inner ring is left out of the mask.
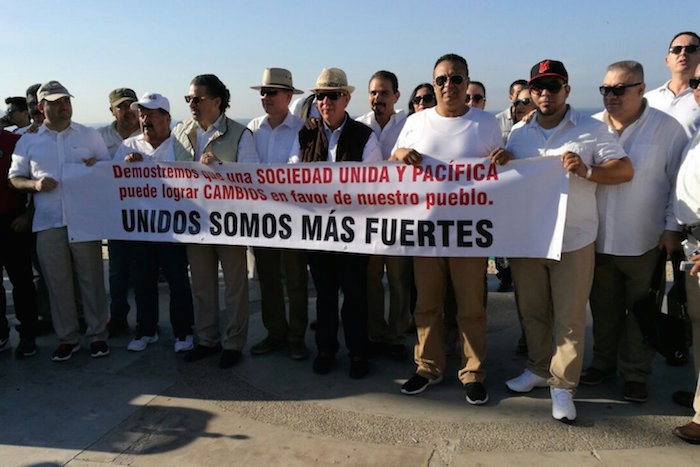
[[[445,371],[445,339],[442,311],[448,277],[457,299],[457,324],[462,336],[462,384],[483,382],[486,358],[484,274],[486,258],[413,258],[418,301],[413,318],[418,331],[416,373],[436,378]]]

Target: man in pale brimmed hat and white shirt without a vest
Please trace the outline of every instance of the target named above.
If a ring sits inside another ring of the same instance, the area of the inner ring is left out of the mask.
[[[289,112],[292,95],[302,94],[292,84],[292,73],[284,68],[266,68],[262,83],[251,86],[260,92],[265,115],[248,123],[256,152],[263,164],[286,164],[289,152],[304,122]],[[285,345],[293,360],[309,355],[304,342],[308,323],[308,272],[303,250],[255,247],[255,264],[260,279],[262,319],[267,336],[253,345],[250,353],[262,355]],[[282,265],[289,298],[289,319],[284,305]]]

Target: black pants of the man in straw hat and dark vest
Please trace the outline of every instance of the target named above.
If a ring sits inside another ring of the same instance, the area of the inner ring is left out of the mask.
[[[345,345],[350,357],[367,357],[367,261],[365,255],[309,252],[316,286],[316,346],[319,352],[338,352],[338,292],[343,291]]]

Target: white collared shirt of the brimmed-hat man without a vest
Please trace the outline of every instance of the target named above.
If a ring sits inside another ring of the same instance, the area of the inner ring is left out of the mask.
[[[275,128],[270,126],[267,115],[257,117],[248,123],[248,129],[253,132],[255,149],[263,164],[286,164],[289,151],[294,146],[294,140],[304,122],[299,117],[287,113],[282,123]]]

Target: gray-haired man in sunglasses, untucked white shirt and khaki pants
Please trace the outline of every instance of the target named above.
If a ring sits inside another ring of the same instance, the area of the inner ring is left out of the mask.
[[[610,65],[600,86],[607,124],[635,167],[620,185],[599,185],[598,237],[590,294],[593,361],[581,384],[599,384],[619,371],[624,398],[645,402],[655,351],[643,342],[632,312],[643,298],[659,261],[680,248],[673,194],[681,153],[688,138],[673,117],[644,98],[644,70],[627,60]],[[644,213],[640,215],[639,213]]]

